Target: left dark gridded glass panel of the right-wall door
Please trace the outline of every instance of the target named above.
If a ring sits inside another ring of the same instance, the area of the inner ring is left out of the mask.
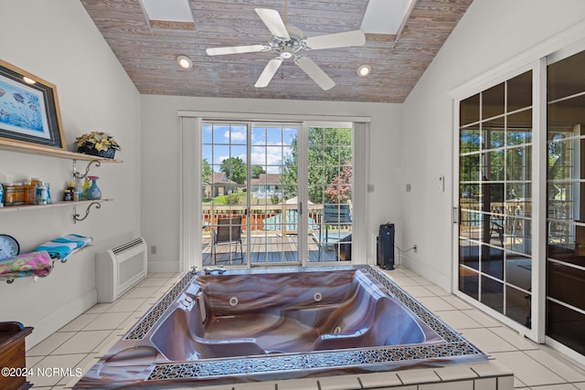
[[[531,326],[532,72],[460,102],[459,290]]]

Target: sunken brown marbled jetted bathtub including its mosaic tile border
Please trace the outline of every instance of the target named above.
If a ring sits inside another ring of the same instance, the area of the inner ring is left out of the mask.
[[[74,388],[215,385],[486,360],[370,266],[186,274]]]

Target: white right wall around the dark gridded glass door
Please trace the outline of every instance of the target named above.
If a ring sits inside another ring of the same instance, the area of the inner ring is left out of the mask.
[[[402,245],[419,248],[403,258],[410,269],[451,289],[450,91],[584,20],[582,0],[473,1],[403,106],[402,184],[411,183],[412,192],[402,185]]]

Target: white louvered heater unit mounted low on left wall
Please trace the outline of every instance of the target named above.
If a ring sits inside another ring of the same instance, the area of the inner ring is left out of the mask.
[[[146,241],[135,238],[96,254],[98,302],[113,302],[146,278]]]

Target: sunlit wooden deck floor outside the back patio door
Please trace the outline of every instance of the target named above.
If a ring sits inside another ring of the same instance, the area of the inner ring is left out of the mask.
[[[319,245],[312,237],[309,237],[309,261],[324,262],[336,261],[334,246],[328,244],[321,246],[321,256],[319,256]],[[298,258],[298,239],[296,235],[281,236],[276,234],[261,234],[250,237],[250,242],[243,240],[243,258],[239,255],[239,245],[222,244],[216,247],[216,259],[218,265],[239,265],[247,264],[246,246],[250,245],[250,263],[251,264],[288,264],[299,263]],[[214,265],[211,255],[211,245],[208,236],[203,237],[203,265]]]

